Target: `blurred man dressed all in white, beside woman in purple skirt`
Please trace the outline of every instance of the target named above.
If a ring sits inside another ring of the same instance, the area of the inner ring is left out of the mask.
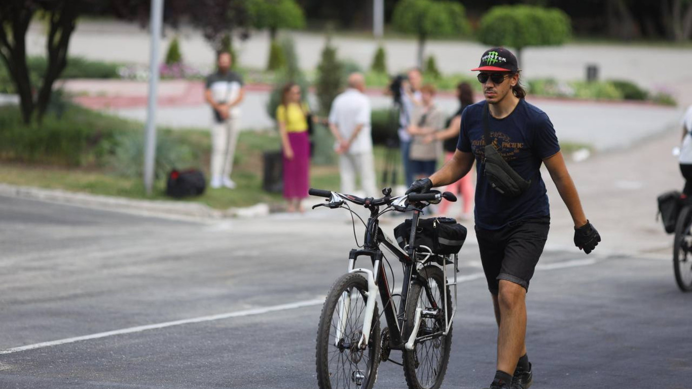
[[[363,92],[365,77],[361,73],[350,74],[346,91],[331,103],[329,130],[336,138],[334,151],[339,156],[341,192],[354,193],[358,174],[365,196],[376,196],[370,99]]]

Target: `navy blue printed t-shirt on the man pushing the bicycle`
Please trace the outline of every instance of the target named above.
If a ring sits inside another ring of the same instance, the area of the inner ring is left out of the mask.
[[[486,104],[482,100],[466,107],[457,143],[459,151],[473,153],[477,161],[476,225],[483,229],[500,229],[516,220],[548,216],[550,207],[545,183],[540,177],[540,164],[543,158],[560,151],[553,124],[545,112],[524,99],[520,99],[507,117],[495,119],[489,115],[491,142],[512,169],[525,180],[531,180],[521,196],[510,198],[493,189],[485,176],[483,115]]]

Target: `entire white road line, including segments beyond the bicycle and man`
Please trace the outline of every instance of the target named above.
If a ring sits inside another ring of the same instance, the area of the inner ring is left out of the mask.
[[[536,266],[536,270],[554,270],[554,269],[565,269],[568,267],[588,266],[588,265],[594,265],[597,262],[598,261],[593,259],[593,258],[567,260],[567,261],[559,262],[559,263],[548,263],[545,265],[543,265],[543,264],[538,265],[538,266]],[[465,276],[457,276],[457,283],[475,281],[475,280],[482,279],[482,278],[485,278],[485,274],[483,274],[483,273],[466,274]],[[451,278],[450,281],[453,281],[453,278]],[[399,292],[401,291],[400,288],[397,288],[397,290],[399,290]],[[397,291],[394,291],[394,292],[397,292]],[[268,312],[295,310],[297,308],[302,308],[302,307],[312,307],[314,305],[322,305],[322,303],[324,303],[324,302],[325,302],[324,298],[316,298],[314,300],[297,301],[295,303],[274,305],[271,307],[254,308],[251,310],[229,312],[229,313],[225,313],[225,314],[215,314],[215,315],[211,315],[211,316],[201,316],[201,317],[196,317],[193,319],[183,319],[183,320],[177,320],[177,321],[167,321],[165,323],[139,325],[137,327],[123,328],[122,330],[99,332],[98,334],[76,336],[74,338],[60,339],[57,341],[49,341],[49,342],[35,343],[35,344],[30,344],[30,345],[23,345],[21,347],[9,348],[7,350],[0,350],[0,354],[11,354],[12,352],[35,350],[37,348],[45,348],[45,347],[50,347],[52,345],[74,343],[74,342],[86,341],[86,340],[90,340],[90,339],[100,339],[100,338],[105,338],[107,336],[113,336],[113,335],[132,334],[135,332],[143,332],[143,331],[147,331],[147,330],[158,330],[159,328],[173,327],[175,325],[202,323],[204,321],[215,321],[215,320],[222,320],[222,319],[230,319],[233,317],[252,316],[252,315],[257,315],[257,314],[266,314]]]

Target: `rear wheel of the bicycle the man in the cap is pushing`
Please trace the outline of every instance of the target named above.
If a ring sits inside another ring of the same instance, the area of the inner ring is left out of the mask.
[[[442,302],[442,287],[445,287],[444,274],[442,270],[433,265],[428,265],[419,272],[421,278],[426,281],[435,283],[436,287],[432,287],[433,299],[443,314],[448,318],[451,317],[451,312],[444,312],[444,303]],[[407,341],[411,332],[415,328],[415,316],[417,307],[430,307],[430,301],[425,293],[424,287],[419,283],[413,283],[408,292],[408,301],[406,301],[406,322],[403,325],[404,341]],[[448,311],[452,307],[452,298],[447,287],[447,307]],[[424,319],[426,327],[432,328],[432,332],[444,328],[444,316],[441,319]],[[432,327],[430,327],[432,325]],[[418,334],[424,331],[424,325],[421,323]],[[406,383],[410,389],[437,389],[441,386],[444,380],[444,374],[447,371],[449,363],[449,354],[452,347],[452,328],[446,335],[441,335],[435,339],[428,339],[414,345],[414,350],[403,352],[403,373],[406,377]],[[438,351],[437,358],[435,350]],[[432,356],[430,355],[430,352]],[[421,362],[422,361],[422,362]],[[436,363],[433,363],[436,361]]]

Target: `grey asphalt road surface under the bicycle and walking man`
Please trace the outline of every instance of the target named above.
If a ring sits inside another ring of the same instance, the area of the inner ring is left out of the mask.
[[[0,388],[316,388],[319,300],[353,245],[329,212],[198,222],[0,197]],[[482,388],[496,329],[473,241],[462,262],[443,388]],[[533,388],[692,388],[691,307],[668,261],[546,252]],[[375,388],[405,386],[381,365]]]

